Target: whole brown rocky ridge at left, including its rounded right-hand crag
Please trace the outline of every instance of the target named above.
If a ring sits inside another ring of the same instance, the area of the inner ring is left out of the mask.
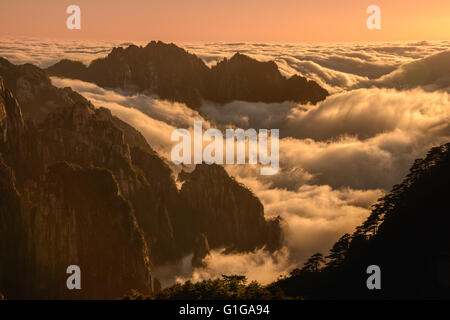
[[[178,190],[133,127],[55,88],[45,71],[0,58],[0,292],[7,298],[151,294],[160,287],[151,266],[195,251],[201,267],[210,248],[279,246],[279,221],[266,221],[260,201],[222,167],[201,165],[189,176]],[[205,193],[192,192],[199,189]],[[218,208],[225,201],[227,210]],[[69,265],[80,266],[83,290],[67,290]]]

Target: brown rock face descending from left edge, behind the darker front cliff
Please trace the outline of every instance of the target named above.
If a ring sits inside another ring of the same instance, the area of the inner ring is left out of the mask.
[[[49,165],[58,161],[108,168],[118,181],[121,194],[132,202],[149,246],[154,247],[151,249],[153,263],[178,257],[180,252],[171,225],[177,196],[175,183],[169,167],[145,138],[113,117],[108,109],[94,108],[70,88],[53,87],[45,72],[37,67],[15,66],[3,59],[0,75],[12,84],[27,79],[28,87],[32,88],[29,91],[35,97],[22,99],[28,106],[24,118],[30,120],[23,133],[20,156],[12,158],[11,152],[5,152],[5,157],[11,158],[8,163],[15,169],[19,188],[35,183]],[[14,88],[19,95],[24,95],[20,88]],[[42,109],[41,104],[55,105],[55,108]]]

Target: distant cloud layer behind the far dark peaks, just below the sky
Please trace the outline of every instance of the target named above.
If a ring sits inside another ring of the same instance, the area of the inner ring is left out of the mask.
[[[152,39],[149,39],[149,41]],[[89,64],[128,41],[56,41],[0,38],[0,56],[12,63],[48,67],[67,58]],[[146,45],[146,42],[134,42]],[[380,43],[186,43],[177,45],[213,65],[236,52],[274,60],[285,75],[301,74],[338,92],[396,71],[400,66],[450,49],[450,41]]]

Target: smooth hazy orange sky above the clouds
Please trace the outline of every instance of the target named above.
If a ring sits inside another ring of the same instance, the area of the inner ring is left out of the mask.
[[[81,30],[66,28],[71,4],[81,7]],[[382,30],[366,28],[371,4]],[[0,30],[92,40],[450,40],[450,0],[0,0]]]

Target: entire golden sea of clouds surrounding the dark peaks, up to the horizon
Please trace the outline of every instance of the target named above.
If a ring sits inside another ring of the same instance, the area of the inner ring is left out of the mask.
[[[311,254],[326,253],[402,180],[414,159],[450,140],[450,41],[177,44],[209,66],[236,52],[274,60],[284,75],[313,79],[331,95],[315,106],[205,102],[197,112],[157,97],[52,78],[55,86],[72,87],[95,106],[109,108],[167,159],[174,146],[172,131],[192,129],[194,120],[201,120],[204,128],[280,129],[278,174],[261,176],[251,165],[226,169],[260,198],[267,217],[284,218],[284,248],[275,255],[262,250],[225,255],[214,250],[202,270],[192,270],[188,256],[178,265],[155,270],[165,285],[229,273],[273,281]],[[3,39],[0,56],[40,67],[62,58],[88,64],[117,45],[127,43]]]

